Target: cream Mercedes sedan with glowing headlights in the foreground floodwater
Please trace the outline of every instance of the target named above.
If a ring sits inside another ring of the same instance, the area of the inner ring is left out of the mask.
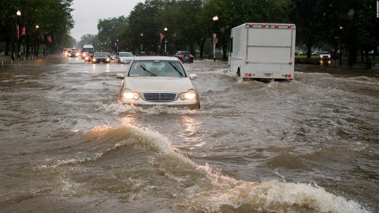
[[[138,56],[132,60],[122,79],[119,102],[140,107],[183,107],[200,109],[199,93],[178,58]]]

